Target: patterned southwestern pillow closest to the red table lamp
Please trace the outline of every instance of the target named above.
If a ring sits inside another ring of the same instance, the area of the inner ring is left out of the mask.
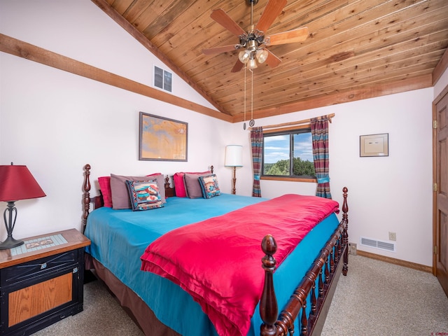
[[[162,208],[162,197],[157,181],[126,181],[132,211]]]

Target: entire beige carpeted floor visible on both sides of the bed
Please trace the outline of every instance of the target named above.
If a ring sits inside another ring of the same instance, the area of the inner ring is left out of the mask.
[[[349,274],[339,278],[322,336],[448,335],[448,298],[435,276],[349,257]],[[83,312],[34,335],[143,335],[100,281],[84,288]]]

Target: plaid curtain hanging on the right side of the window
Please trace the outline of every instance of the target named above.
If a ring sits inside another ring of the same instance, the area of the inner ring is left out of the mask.
[[[331,198],[328,160],[328,118],[311,119],[314,170],[316,171],[316,196]]]

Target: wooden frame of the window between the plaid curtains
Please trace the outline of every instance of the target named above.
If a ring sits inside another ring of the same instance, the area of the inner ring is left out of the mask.
[[[309,131],[308,131],[309,130]],[[280,176],[280,175],[265,175],[264,167],[265,167],[265,135],[269,134],[269,137],[273,135],[284,135],[288,134],[289,136],[291,134],[296,134],[297,131],[302,131],[303,133],[311,132],[311,124],[307,123],[304,125],[296,125],[292,127],[283,127],[283,128],[276,128],[272,130],[263,130],[263,151],[262,151],[262,158],[261,158],[261,174],[260,174],[260,180],[267,180],[267,181],[294,181],[294,182],[317,182],[316,177],[304,177],[304,176]],[[291,144],[290,144],[291,146]],[[290,155],[291,155],[292,149],[290,148]],[[291,162],[291,156],[289,156],[289,160]]]

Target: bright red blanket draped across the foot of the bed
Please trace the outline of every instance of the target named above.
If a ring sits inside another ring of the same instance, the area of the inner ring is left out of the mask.
[[[262,238],[276,239],[278,266],[338,206],[321,197],[283,195],[186,225],[153,241],[141,269],[190,293],[219,335],[246,335],[264,281]]]

